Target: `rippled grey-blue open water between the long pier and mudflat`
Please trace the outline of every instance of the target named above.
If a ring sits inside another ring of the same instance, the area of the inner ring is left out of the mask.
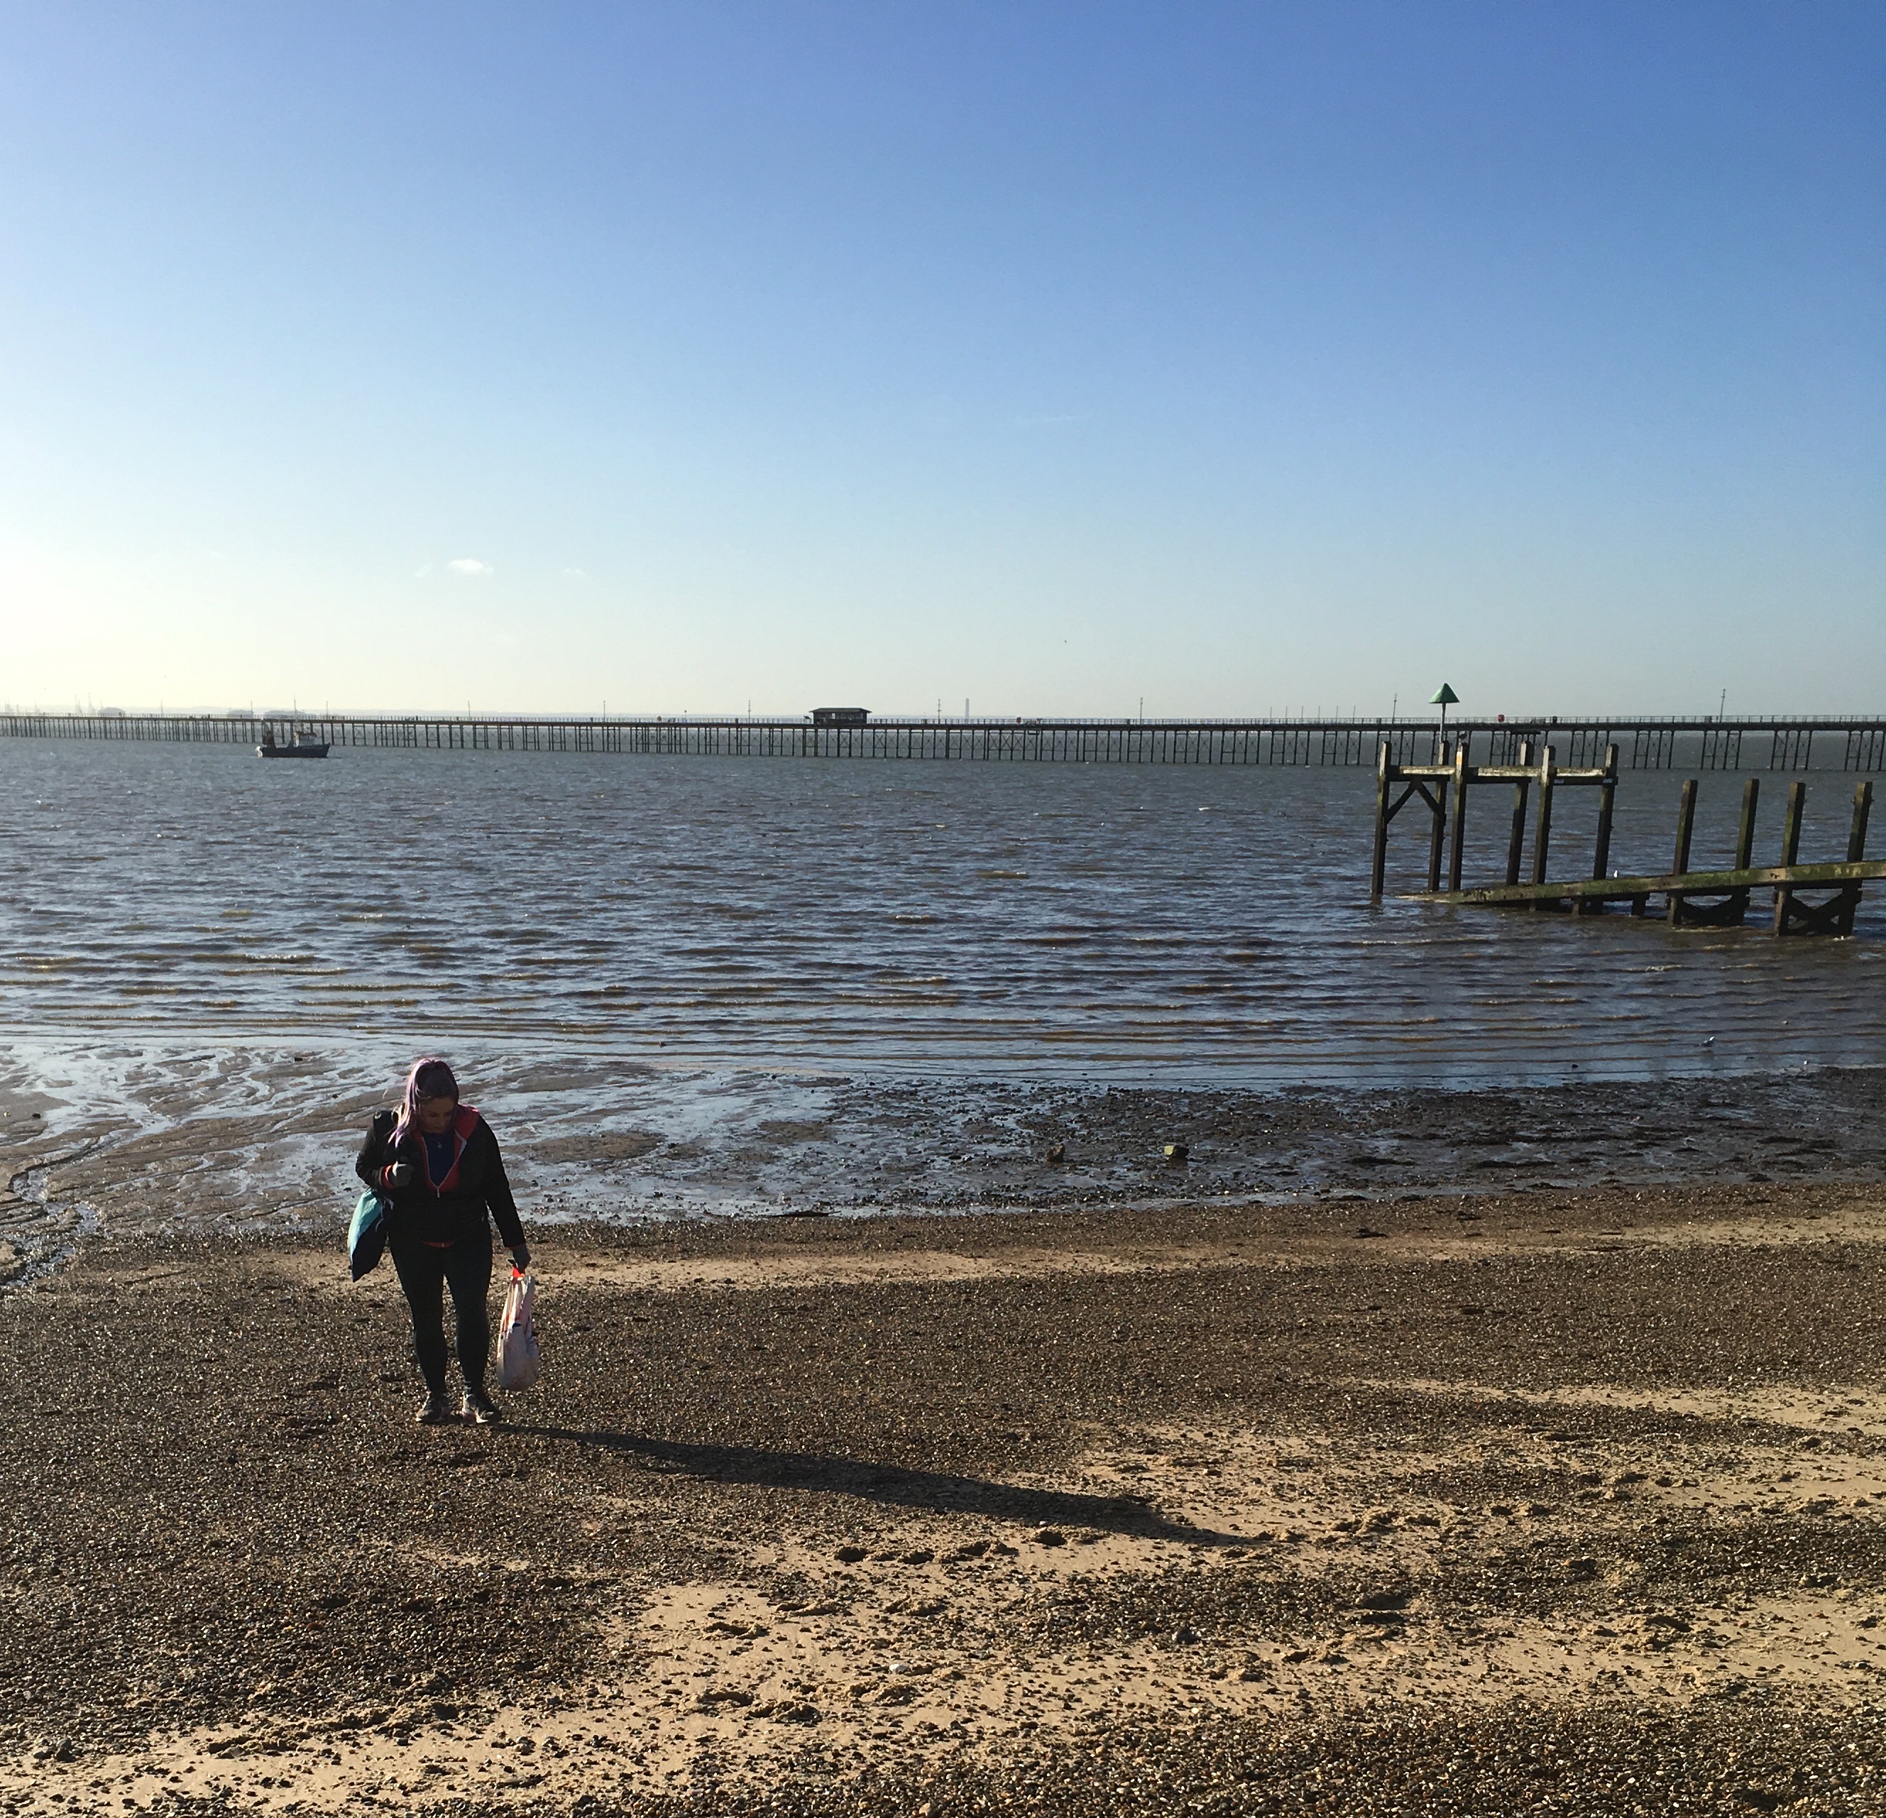
[[[1362,769],[0,741],[0,1015],[62,1047],[1245,1084],[1886,1062],[1886,894],[1850,941],[1371,907]],[[1667,864],[1679,781],[1624,777],[1624,871]],[[1809,783],[1803,858],[1843,856],[1852,779]],[[1594,794],[1560,794],[1554,873]],[[1705,779],[1697,864],[1737,798]],[[1492,881],[1503,792],[1473,809]]]

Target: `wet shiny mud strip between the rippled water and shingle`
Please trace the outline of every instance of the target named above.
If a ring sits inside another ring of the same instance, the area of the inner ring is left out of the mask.
[[[87,1096],[83,1079],[53,1098],[17,1067],[0,1077],[0,1281],[57,1269],[98,1233],[339,1230],[385,1094],[339,1071],[309,1081],[309,1058],[196,1054],[149,1066],[117,1098]],[[543,1228],[1886,1179],[1878,1067],[1477,1090],[604,1062],[468,1077]]]

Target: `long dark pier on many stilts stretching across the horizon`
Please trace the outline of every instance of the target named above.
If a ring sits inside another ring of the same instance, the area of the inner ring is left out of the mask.
[[[411,751],[560,751],[696,758],[918,758],[986,764],[1277,764],[1373,766],[1439,758],[1433,720],[1075,720],[873,719],[815,726],[811,719],[553,719],[375,713],[0,713],[0,737],[138,739],[185,745],[287,743],[309,728],[336,747]],[[1797,719],[1509,719],[1454,720],[1488,764],[1518,764],[1550,741],[1567,768],[1618,747],[1624,769],[1886,769],[1886,715]]]

